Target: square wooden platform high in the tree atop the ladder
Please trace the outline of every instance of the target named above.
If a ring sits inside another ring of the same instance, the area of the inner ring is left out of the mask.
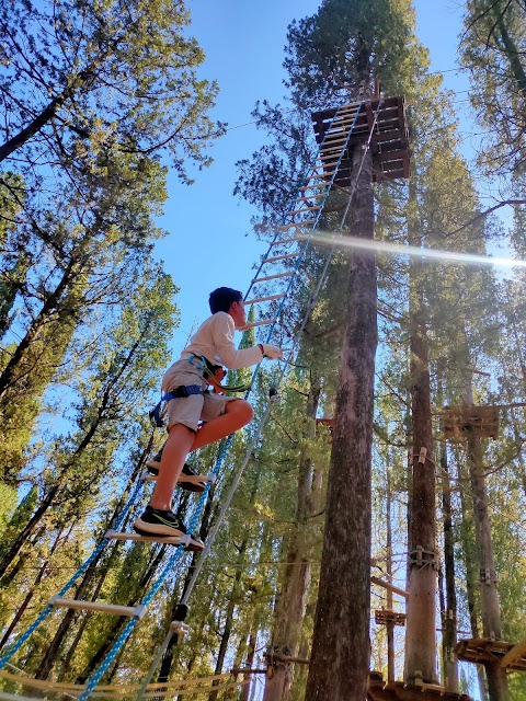
[[[350,138],[348,148],[343,156],[334,179],[334,184],[340,187],[348,187],[351,185],[352,150],[357,143],[364,143],[367,140],[370,127],[374,124],[378,102],[378,100],[374,100],[362,105]],[[357,106],[358,104],[351,103],[345,106]],[[331,107],[312,113],[312,123],[318,143],[323,141],[325,131],[336,112],[338,108]],[[373,180],[376,183],[397,177],[409,177],[409,133],[403,97],[385,97],[380,101],[380,110],[374,127],[370,149],[373,153]],[[338,157],[339,153],[324,161],[324,166],[328,171],[336,163]],[[330,174],[328,177],[330,177]]]

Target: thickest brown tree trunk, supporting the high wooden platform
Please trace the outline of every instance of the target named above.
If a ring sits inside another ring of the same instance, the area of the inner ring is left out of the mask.
[[[363,156],[356,147],[354,177]],[[353,235],[367,240],[374,239],[371,166],[367,151],[356,182],[350,226]],[[367,693],[377,346],[373,254],[351,254],[347,299],[306,701],[363,701]]]

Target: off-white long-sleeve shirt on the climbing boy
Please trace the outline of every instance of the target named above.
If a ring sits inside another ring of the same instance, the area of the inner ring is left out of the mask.
[[[193,354],[204,355],[210,363],[224,365],[229,370],[239,370],[261,363],[263,355],[259,346],[241,350],[236,348],[235,331],[236,325],[230,314],[218,311],[201,324],[182,352],[181,359],[190,358]]]

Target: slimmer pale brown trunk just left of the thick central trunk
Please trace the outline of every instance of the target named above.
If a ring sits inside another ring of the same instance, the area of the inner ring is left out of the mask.
[[[294,530],[286,548],[284,578],[279,583],[276,598],[272,650],[281,656],[297,657],[300,644],[301,623],[305,616],[307,594],[310,585],[312,563],[312,538],[309,537],[309,519],[312,516],[317,495],[313,490],[320,484],[313,479],[313,461],[309,455],[308,441],[316,437],[316,414],[320,400],[320,378],[310,381],[306,410],[304,448],[299,461],[296,516]],[[286,699],[294,679],[294,665],[277,662],[272,666],[272,676],[265,681],[264,701]]]

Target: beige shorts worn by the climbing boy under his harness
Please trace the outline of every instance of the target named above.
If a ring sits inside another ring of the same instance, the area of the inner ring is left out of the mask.
[[[203,379],[203,370],[184,359],[178,360],[168,368],[162,378],[161,389],[165,393],[176,387],[190,384],[201,384],[203,390],[208,389],[208,382]],[[168,402],[168,427],[183,424],[192,430],[197,430],[199,421],[211,421],[225,414],[227,403],[235,402],[237,399],[237,397],[225,397],[215,392],[176,397]]]

